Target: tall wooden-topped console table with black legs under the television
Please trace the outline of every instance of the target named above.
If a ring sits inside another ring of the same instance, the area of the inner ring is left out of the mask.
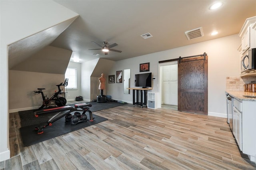
[[[141,108],[147,107],[147,95],[148,95],[148,90],[152,90],[153,88],[127,88],[132,90],[132,104],[133,107],[135,105],[140,105]],[[143,95],[144,92],[144,95]],[[136,94],[136,101],[135,101],[135,94]],[[140,97],[139,97],[140,95]],[[140,101],[139,101],[140,98]],[[144,98],[144,102],[143,102],[143,98]]]

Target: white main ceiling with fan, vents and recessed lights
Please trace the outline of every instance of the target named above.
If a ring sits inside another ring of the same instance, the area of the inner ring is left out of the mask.
[[[246,18],[256,16],[256,0],[54,0],[80,16],[52,46],[72,50],[80,62],[104,57],[113,61],[238,34]],[[188,40],[184,32],[202,27],[204,36]],[[219,34],[211,36],[213,31]],[[140,35],[152,34],[143,39]],[[93,42],[117,43],[122,53],[104,55]],[[99,55],[93,55],[98,53]],[[71,59],[72,59],[71,58]],[[73,61],[73,60],[71,60]]]

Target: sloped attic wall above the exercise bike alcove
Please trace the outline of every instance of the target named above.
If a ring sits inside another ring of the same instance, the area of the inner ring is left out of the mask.
[[[18,42],[12,43],[9,45],[8,48],[8,65],[9,69],[13,70],[21,70],[21,71],[33,71],[33,72],[40,72],[40,73],[63,73],[62,71],[57,71],[56,69],[61,69],[61,67],[56,67],[54,62],[59,61],[61,59],[61,63],[65,63],[65,66],[68,65],[71,52],[66,50],[62,52],[61,55],[70,55],[69,58],[67,57],[60,57],[58,56],[60,48],[52,47],[51,49],[44,49],[50,43],[52,43],[74,20],[76,17],[66,20],[60,24],[57,24],[51,28],[43,30],[37,34],[24,38]],[[41,50],[41,51],[40,51]],[[47,52],[51,51],[51,52]],[[56,52],[54,52],[56,50]],[[38,54],[38,52],[40,53]],[[43,55],[42,53],[46,52]],[[54,62],[49,62],[49,60]],[[40,66],[44,65],[44,69]],[[46,70],[47,66],[47,70]],[[66,69],[65,69],[66,70]],[[54,72],[50,72],[54,71]],[[65,73],[65,71],[64,71]]]

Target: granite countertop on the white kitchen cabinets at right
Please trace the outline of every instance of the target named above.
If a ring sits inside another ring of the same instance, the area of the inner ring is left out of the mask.
[[[244,101],[256,101],[256,92],[247,91],[226,91],[230,96]],[[245,97],[248,96],[248,97]]]

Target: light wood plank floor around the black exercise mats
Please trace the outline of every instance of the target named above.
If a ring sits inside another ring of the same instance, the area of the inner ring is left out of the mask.
[[[23,147],[11,113],[11,158],[0,169],[256,169],[224,118],[130,104],[94,114],[108,121]]]

